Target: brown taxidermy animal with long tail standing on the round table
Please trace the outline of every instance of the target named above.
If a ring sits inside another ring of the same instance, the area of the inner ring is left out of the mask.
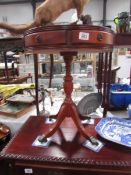
[[[34,21],[28,24],[11,25],[0,22],[0,28],[7,29],[10,33],[22,34],[24,31],[44,26],[55,21],[63,12],[70,9],[77,10],[78,19],[81,18],[84,5],[90,0],[45,0],[36,8]]]

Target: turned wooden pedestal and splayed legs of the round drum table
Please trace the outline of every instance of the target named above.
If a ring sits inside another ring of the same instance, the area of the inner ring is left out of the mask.
[[[92,143],[97,144],[97,143],[95,143],[90,132],[88,131],[88,133],[87,133],[85,131],[84,126],[81,124],[81,120],[80,120],[80,116],[79,116],[77,107],[71,98],[71,93],[73,91],[73,82],[72,82],[73,78],[71,76],[71,64],[73,61],[73,56],[76,55],[76,53],[75,52],[74,53],[66,52],[66,53],[62,53],[61,55],[64,57],[64,62],[65,62],[65,66],[66,66],[66,75],[64,77],[64,83],[63,83],[64,92],[65,92],[65,100],[64,100],[63,104],[61,105],[61,108],[60,108],[58,114],[56,115],[57,120],[56,120],[53,128],[51,129],[51,131],[44,133],[39,138],[39,141],[40,142],[47,141],[46,139],[48,137],[51,137],[56,132],[56,130],[59,128],[62,121],[66,117],[71,117],[72,120],[74,121],[78,131],[80,132],[80,134],[83,137],[85,137],[86,139],[90,140]]]

